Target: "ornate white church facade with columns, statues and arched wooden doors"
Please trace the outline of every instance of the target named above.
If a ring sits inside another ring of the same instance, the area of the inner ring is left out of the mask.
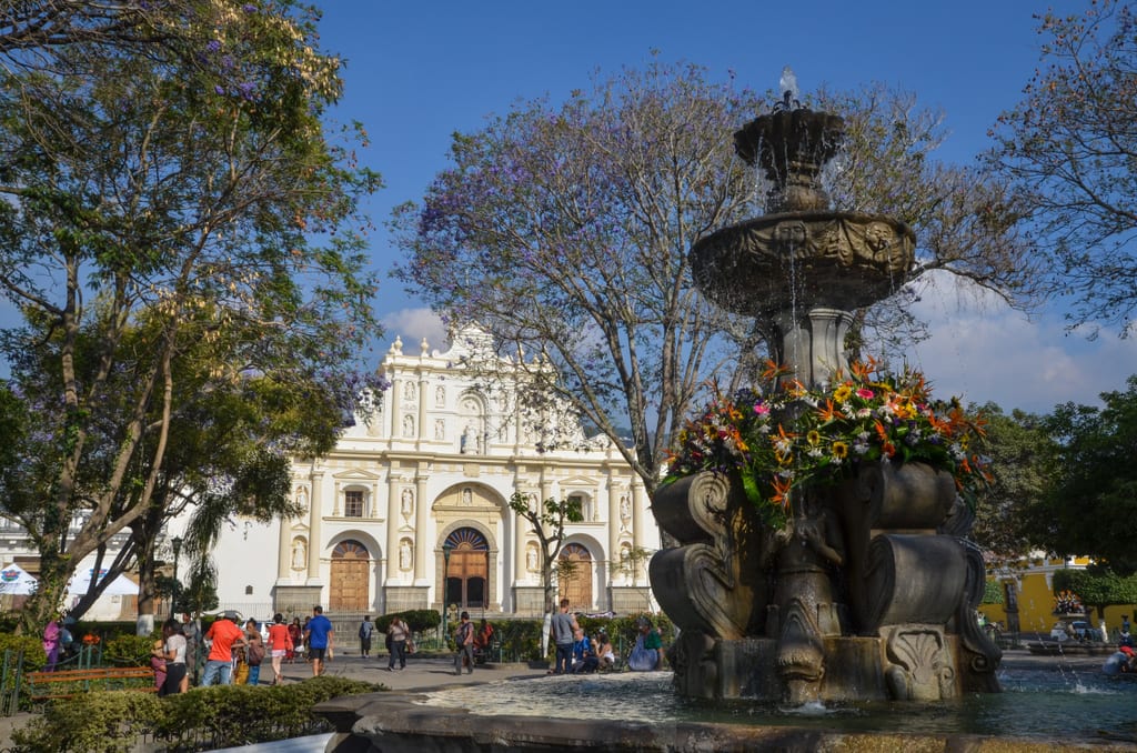
[[[646,558],[659,529],[620,452],[563,420],[562,440],[539,449],[547,435],[515,391],[488,387],[484,370],[470,366],[491,351],[489,336],[467,328],[451,340],[445,353],[424,340],[416,355],[396,340],[380,366],[390,387],[370,420],[327,456],[293,465],[304,514],[226,531],[215,554],[223,607],[257,617],[302,615],[314,604],[333,614],[443,604],[539,614],[538,539],[508,505],[520,491],[581,505],[583,520],[566,526],[561,558],[572,565],[558,584],[574,610],[653,609]]]

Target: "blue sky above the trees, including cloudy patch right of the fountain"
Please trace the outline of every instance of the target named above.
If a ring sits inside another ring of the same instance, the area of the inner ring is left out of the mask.
[[[1086,2],[1052,7],[1080,13]],[[348,61],[337,117],[365,124],[373,146],[364,159],[387,183],[371,207],[381,271],[399,255],[382,222],[393,206],[418,200],[447,166],[453,132],[475,131],[520,99],[559,101],[587,88],[596,71],[606,76],[644,67],[653,50],[665,61],[705,66],[713,77],[733,72],[760,91],[777,88],[785,65],[803,92],[870,82],[913,91],[922,105],[944,110],[952,135],[940,157],[970,162],[1038,65],[1044,38],[1032,14],[1046,9],[1029,0],[322,5],[321,43]],[[396,281],[385,282],[376,307],[389,337],[375,363],[396,334],[412,353],[423,337],[432,348],[443,346],[437,320]],[[913,351],[913,362],[940,395],[1047,412],[1065,400],[1096,403],[1137,371],[1137,338],[1106,332],[1087,341],[1067,333],[1056,311],[1027,321],[944,287],[926,296],[920,313],[935,336]]]

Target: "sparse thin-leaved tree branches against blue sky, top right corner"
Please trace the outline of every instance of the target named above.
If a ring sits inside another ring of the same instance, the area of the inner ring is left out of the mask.
[[[1137,307],[1137,23],[1098,0],[1038,16],[1041,65],[999,117],[989,160],[1019,195],[1072,325],[1118,324]]]

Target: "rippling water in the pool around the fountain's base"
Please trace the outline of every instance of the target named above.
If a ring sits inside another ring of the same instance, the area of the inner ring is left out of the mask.
[[[611,720],[673,725],[711,722],[846,733],[940,736],[972,734],[1053,742],[1137,743],[1137,681],[1104,677],[1095,667],[1007,660],[1001,694],[953,703],[813,703],[786,708],[747,701],[702,701],[675,694],[671,672],[539,678],[431,693],[434,708],[478,715]]]

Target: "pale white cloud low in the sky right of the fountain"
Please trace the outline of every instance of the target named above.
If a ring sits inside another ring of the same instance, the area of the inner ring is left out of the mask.
[[[1137,339],[1103,328],[1090,341],[1068,331],[1061,315],[1028,320],[989,293],[968,300],[939,284],[914,311],[931,322],[932,337],[911,362],[940,397],[1048,413],[1067,402],[1099,405],[1101,392],[1123,390],[1137,372]]]

